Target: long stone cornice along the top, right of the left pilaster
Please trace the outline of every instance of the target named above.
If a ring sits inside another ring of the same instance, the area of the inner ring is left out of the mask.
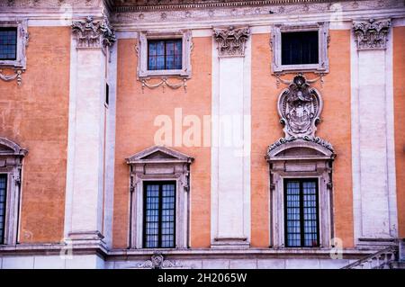
[[[384,9],[398,9],[398,13],[403,8],[401,1],[397,0],[369,0],[369,1],[341,1],[339,3],[331,3],[323,1],[320,3],[303,3],[294,1],[290,4],[256,4],[254,1],[248,6],[230,6],[222,4],[218,7],[210,8],[209,6],[200,5],[196,8],[171,9],[168,6],[162,5],[160,9],[139,10],[130,7],[122,7],[112,13],[112,22],[120,23],[120,29],[125,27],[135,27],[139,25],[161,25],[162,22],[181,22],[194,24],[195,22],[203,22],[204,27],[212,25],[224,24],[223,21],[229,22],[291,22],[287,17],[292,14],[302,16],[302,14],[317,13],[318,21],[329,22],[331,16],[342,17],[341,20],[350,21],[355,19],[359,11],[369,10],[375,14],[380,14]],[[380,12],[381,11],[381,12]],[[269,17],[269,13],[274,14],[277,18]],[[279,20],[279,17],[283,17]],[[284,19],[285,17],[285,19]],[[320,20],[322,19],[322,20]],[[334,20],[334,19],[332,19]],[[297,20],[298,21],[298,18]],[[294,22],[296,22],[294,20]],[[220,23],[222,22],[222,23]]]

